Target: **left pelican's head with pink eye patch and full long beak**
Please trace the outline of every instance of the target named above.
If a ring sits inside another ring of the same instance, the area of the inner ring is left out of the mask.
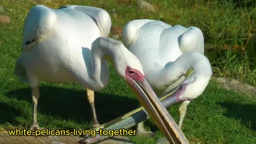
[[[166,138],[172,143],[177,141],[186,141],[185,143],[187,143],[186,137],[168,111],[161,105],[157,95],[147,82],[139,59],[127,50],[123,43],[111,38],[97,38],[92,44],[92,50],[95,47],[105,50],[102,54],[105,54],[105,58],[114,64],[119,76],[127,82]]]

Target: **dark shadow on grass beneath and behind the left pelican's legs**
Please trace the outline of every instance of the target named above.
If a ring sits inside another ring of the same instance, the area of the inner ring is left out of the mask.
[[[6,95],[17,100],[31,102],[30,89],[18,89],[10,91]],[[137,108],[138,101],[119,95],[95,92],[95,107],[99,122],[103,124]],[[17,124],[14,118],[21,116],[21,112],[15,107],[7,106],[6,103],[0,103],[0,110],[6,108],[7,111],[2,110],[1,113],[3,116],[7,115],[7,117],[1,119],[0,123],[7,121],[10,124]],[[27,108],[31,109],[31,105]],[[86,99],[86,91],[41,86],[38,111],[46,116],[57,116],[65,120],[71,119],[77,124],[90,123],[92,121],[91,110]],[[28,119],[31,119],[31,117],[28,117]]]

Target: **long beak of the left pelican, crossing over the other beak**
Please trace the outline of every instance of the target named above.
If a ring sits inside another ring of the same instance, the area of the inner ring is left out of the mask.
[[[179,126],[168,111],[161,105],[155,92],[148,84],[146,79],[136,82],[130,77],[125,80],[131,86],[137,95],[141,105],[147,110],[150,117],[153,118],[158,128],[164,133],[165,137],[171,143],[189,143]]]

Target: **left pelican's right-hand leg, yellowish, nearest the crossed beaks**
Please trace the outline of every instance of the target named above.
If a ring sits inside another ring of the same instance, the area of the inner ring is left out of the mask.
[[[100,123],[98,122],[98,118],[97,118],[96,110],[95,110],[94,91],[86,88],[86,92],[87,92],[87,99],[89,101],[89,105],[90,105],[90,108],[92,111],[93,127],[97,127],[100,125]]]

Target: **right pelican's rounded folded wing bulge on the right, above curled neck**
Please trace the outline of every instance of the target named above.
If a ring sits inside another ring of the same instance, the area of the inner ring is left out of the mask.
[[[182,53],[197,51],[204,54],[204,36],[197,27],[189,27],[180,37],[180,50]]]

